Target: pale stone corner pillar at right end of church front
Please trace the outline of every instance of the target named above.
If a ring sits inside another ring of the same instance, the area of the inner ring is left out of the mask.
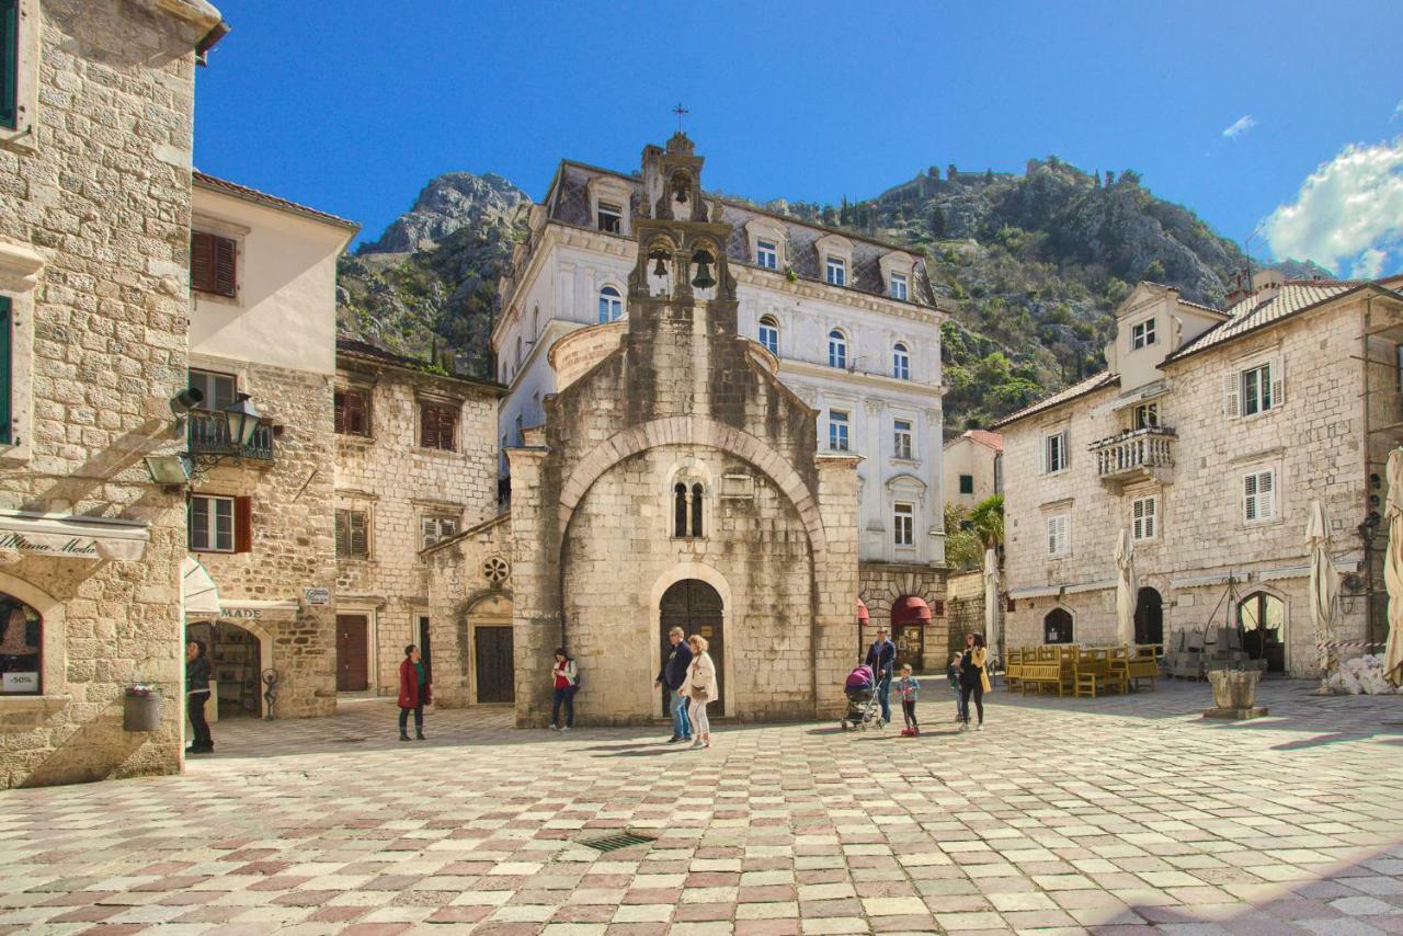
[[[857,648],[859,455],[819,455],[818,512],[824,542],[814,549],[814,717],[842,714],[843,678]]]

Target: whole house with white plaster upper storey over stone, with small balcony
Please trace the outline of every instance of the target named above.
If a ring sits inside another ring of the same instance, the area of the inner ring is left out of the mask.
[[[187,605],[212,655],[209,714],[335,711],[337,258],[352,222],[195,173],[188,544],[217,603]],[[230,410],[233,407],[233,410]],[[239,415],[257,428],[237,438]],[[206,580],[208,575],[208,580]]]

